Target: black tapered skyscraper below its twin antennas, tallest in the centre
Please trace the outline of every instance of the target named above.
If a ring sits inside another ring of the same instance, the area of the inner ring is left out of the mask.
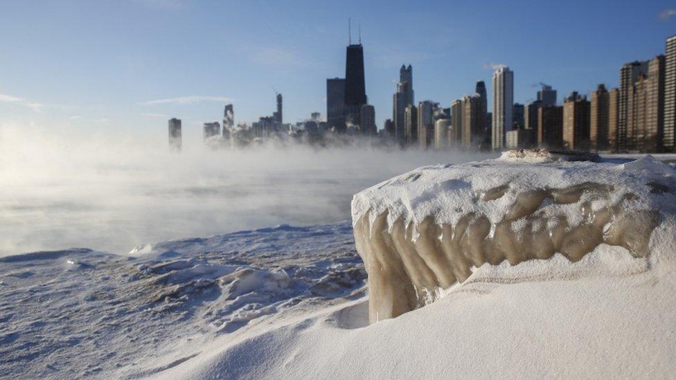
[[[345,62],[345,121],[359,124],[359,113],[366,100],[364,48],[362,42],[347,47]]]

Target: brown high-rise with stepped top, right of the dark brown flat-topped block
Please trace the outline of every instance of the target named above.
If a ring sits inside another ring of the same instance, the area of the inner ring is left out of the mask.
[[[589,101],[576,91],[563,104],[563,147],[589,150]]]

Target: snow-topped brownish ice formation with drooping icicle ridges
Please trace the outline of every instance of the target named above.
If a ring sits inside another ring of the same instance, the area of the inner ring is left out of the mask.
[[[622,165],[536,156],[427,166],[355,195],[371,323],[427,305],[484,264],[556,253],[576,262],[599,244],[647,257],[652,230],[676,214],[676,171],[650,156]]]

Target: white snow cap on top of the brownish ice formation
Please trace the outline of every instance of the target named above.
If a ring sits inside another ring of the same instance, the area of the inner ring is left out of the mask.
[[[497,224],[519,194],[569,188],[582,183],[612,186],[610,197],[588,199],[594,201],[592,210],[619,203],[628,193],[638,196],[630,203],[634,210],[673,206],[670,197],[653,197],[654,189],[648,183],[674,183],[676,170],[652,156],[623,164],[538,161],[530,154],[521,159],[519,155],[510,159],[504,159],[505,156],[479,162],[424,166],[378,183],[353,197],[353,225],[369,211],[372,221],[377,215],[388,212],[390,226],[398,219],[404,224],[418,224],[428,216],[434,216],[438,224],[454,225],[470,212],[485,215],[492,224]],[[504,196],[494,201],[476,201],[489,190],[501,186],[508,186]],[[546,217],[565,215],[569,221],[576,221],[581,215],[578,203],[546,205],[543,210]]]

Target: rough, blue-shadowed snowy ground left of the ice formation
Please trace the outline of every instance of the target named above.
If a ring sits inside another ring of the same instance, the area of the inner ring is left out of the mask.
[[[359,298],[348,222],[0,257],[0,377],[147,377],[219,337]]]

